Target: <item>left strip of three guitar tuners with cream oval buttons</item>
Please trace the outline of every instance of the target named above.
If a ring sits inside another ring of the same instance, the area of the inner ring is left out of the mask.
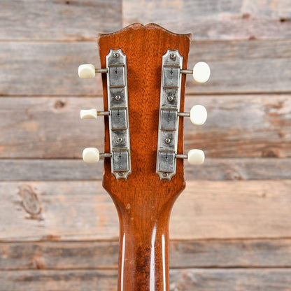
[[[83,160],[87,163],[99,162],[100,157],[111,158],[111,172],[117,179],[131,173],[129,115],[127,94],[127,57],[122,50],[110,50],[106,56],[106,69],[95,69],[92,64],[78,67],[80,78],[94,78],[96,73],[106,73],[108,92],[108,111],[87,109],[80,111],[81,119],[96,119],[108,116],[110,148],[109,153],[100,153],[97,148],[85,148]]]

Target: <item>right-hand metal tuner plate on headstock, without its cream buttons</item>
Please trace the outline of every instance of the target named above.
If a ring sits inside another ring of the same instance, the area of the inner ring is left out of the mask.
[[[162,57],[156,168],[161,180],[171,180],[176,173],[182,64],[178,50],[168,50]]]

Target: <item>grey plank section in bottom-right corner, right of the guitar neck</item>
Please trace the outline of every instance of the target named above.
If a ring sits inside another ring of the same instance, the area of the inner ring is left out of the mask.
[[[170,273],[170,290],[289,291],[290,269],[183,269]]]

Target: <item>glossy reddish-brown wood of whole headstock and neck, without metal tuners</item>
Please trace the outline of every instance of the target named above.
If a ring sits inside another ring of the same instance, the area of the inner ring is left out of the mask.
[[[169,215],[178,194],[185,188],[183,160],[176,176],[159,180],[155,173],[159,120],[162,56],[179,50],[187,67],[190,35],[173,34],[156,24],[132,24],[114,34],[99,36],[101,67],[110,49],[127,55],[129,128],[132,174],[116,180],[110,159],[104,161],[104,188],[120,218],[118,290],[169,290]],[[108,110],[106,76],[104,110]],[[185,76],[182,76],[180,111],[184,108]],[[109,151],[108,118],[105,119],[105,152]],[[180,120],[178,152],[183,152],[183,120]]]

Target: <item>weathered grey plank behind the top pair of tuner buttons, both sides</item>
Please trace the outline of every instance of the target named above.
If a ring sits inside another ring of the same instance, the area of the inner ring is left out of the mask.
[[[208,62],[211,78],[198,84],[188,76],[186,94],[291,92],[290,45],[289,39],[192,42],[188,67]],[[102,94],[99,74],[77,75],[80,64],[99,67],[97,42],[3,42],[0,59],[1,95]]]

